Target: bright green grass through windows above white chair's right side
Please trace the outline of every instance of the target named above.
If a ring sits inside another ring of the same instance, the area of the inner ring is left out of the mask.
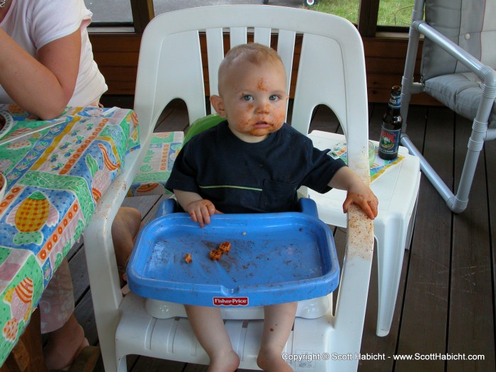
[[[414,0],[381,0],[379,3],[378,25],[410,26]],[[315,11],[342,16],[352,23],[358,22],[360,0],[319,0],[312,6]]]

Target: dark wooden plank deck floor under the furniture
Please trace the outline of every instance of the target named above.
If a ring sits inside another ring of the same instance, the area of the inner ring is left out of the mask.
[[[133,97],[104,96],[105,106],[133,107]],[[370,137],[378,139],[385,105],[371,104]],[[470,133],[470,123],[441,107],[412,107],[408,133],[415,145],[443,179],[453,183],[461,167]],[[183,130],[186,109],[169,105],[161,131]],[[315,129],[334,128],[329,111],[319,108],[312,122]],[[324,129],[325,130],[325,129]],[[496,142],[485,145],[480,157],[468,208],[453,215],[422,177],[417,220],[410,250],[405,253],[402,280],[391,332],[376,337],[377,278],[374,261],[363,329],[363,354],[381,360],[361,361],[359,371],[495,371],[495,242],[496,237]],[[128,198],[125,205],[139,208],[145,220],[159,197]],[[337,230],[337,245],[343,245]],[[342,248],[341,248],[342,249]],[[84,246],[69,253],[76,315],[91,344],[98,343],[91,289],[86,273]],[[341,256],[342,257],[342,256]],[[462,357],[459,357],[461,354]],[[412,356],[419,360],[395,360]],[[453,360],[441,360],[451,356]],[[460,360],[463,358],[466,360]],[[477,356],[478,360],[469,360]],[[454,360],[457,359],[457,360]],[[206,371],[205,366],[131,356],[129,371]],[[103,368],[102,368],[103,371]]]

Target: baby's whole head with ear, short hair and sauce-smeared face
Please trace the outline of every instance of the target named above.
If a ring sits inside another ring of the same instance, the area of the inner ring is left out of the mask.
[[[256,43],[227,53],[219,69],[215,110],[244,142],[261,142],[286,120],[286,70],[275,50]]]

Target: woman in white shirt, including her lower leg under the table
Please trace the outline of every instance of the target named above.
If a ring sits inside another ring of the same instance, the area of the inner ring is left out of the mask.
[[[0,103],[16,103],[42,119],[66,106],[98,106],[107,90],[91,52],[83,0],[0,0]],[[66,368],[88,341],[74,317],[67,260],[40,300],[45,364]]]

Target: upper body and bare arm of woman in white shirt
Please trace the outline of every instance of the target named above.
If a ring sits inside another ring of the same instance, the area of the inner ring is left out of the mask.
[[[98,103],[107,86],[93,60],[90,21],[82,0],[0,0],[0,101],[42,119]]]

